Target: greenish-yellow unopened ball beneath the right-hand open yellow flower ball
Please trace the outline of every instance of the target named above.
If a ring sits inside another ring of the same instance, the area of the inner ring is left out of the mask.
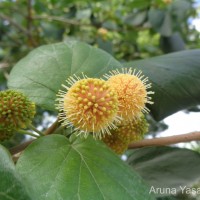
[[[118,124],[118,128],[113,130],[113,132],[116,132],[122,141],[131,143],[142,140],[144,134],[148,132],[148,127],[149,124],[142,114],[141,117],[134,118],[132,121],[121,121],[121,123]]]

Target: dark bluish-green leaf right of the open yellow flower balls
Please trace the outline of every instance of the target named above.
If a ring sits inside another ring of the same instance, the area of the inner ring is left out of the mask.
[[[141,69],[153,83],[149,108],[156,120],[200,104],[199,57],[200,50],[189,50],[124,64]]]

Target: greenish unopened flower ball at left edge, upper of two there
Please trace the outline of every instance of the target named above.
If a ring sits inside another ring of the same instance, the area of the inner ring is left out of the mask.
[[[0,131],[26,128],[35,115],[35,104],[21,92],[0,92]]]

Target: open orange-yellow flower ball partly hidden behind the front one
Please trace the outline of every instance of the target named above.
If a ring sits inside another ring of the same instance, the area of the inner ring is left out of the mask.
[[[151,84],[147,84],[148,78],[144,78],[142,72],[132,71],[132,69],[113,70],[105,75],[109,85],[117,92],[119,100],[119,116],[124,120],[137,118],[141,112],[148,112],[146,103],[152,104],[147,91]]]

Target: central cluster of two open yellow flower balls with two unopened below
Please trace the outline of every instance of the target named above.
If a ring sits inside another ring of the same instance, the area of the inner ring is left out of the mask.
[[[102,139],[117,153],[131,141],[139,140],[148,130],[143,113],[152,104],[147,91],[151,84],[141,71],[123,68],[104,75],[105,80],[69,77],[65,91],[58,92],[59,119],[73,127],[77,135]]]

